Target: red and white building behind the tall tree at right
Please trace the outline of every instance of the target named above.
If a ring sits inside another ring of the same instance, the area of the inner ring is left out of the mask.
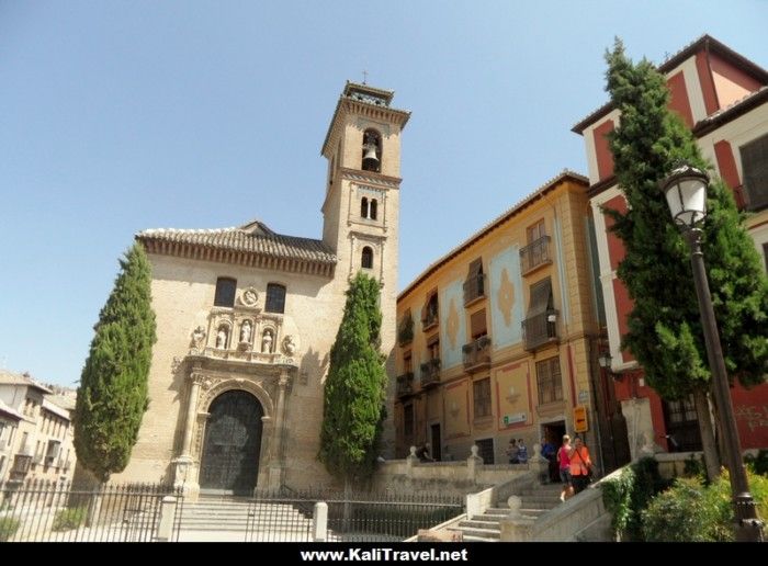
[[[702,154],[732,188],[747,214],[747,228],[768,262],[768,71],[704,35],[658,67],[671,91],[669,106],[678,112],[699,142]],[[574,126],[584,136],[590,183],[599,281],[610,367],[603,381],[613,381],[615,400],[626,422],[630,451],[651,439],[665,450],[701,446],[692,399],[664,401],[650,388],[643,370],[620,348],[632,302],[615,270],[624,256],[622,241],[608,231],[611,220],[600,207],[625,210],[613,174],[606,134],[620,121],[608,103]],[[693,290],[691,290],[693,293]],[[768,339],[768,338],[767,338]],[[613,377],[613,380],[611,380]],[[731,389],[744,449],[768,446],[768,384]]]

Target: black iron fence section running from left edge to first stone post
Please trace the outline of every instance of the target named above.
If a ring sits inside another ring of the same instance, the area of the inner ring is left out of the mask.
[[[106,484],[90,488],[44,480],[0,483],[0,542],[154,541],[167,496],[174,496],[170,540],[177,541],[183,497],[170,486]]]

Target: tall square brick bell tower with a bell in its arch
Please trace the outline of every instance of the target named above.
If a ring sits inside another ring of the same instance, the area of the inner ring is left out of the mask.
[[[381,352],[387,356],[387,420],[382,452],[394,457],[395,327],[400,189],[400,134],[410,112],[389,104],[393,91],[347,81],[323,156],[328,159],[323,241],[337,256],[343,293],[359,271],[381,285]]]

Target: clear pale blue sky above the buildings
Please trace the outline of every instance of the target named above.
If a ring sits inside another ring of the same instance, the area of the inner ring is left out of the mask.
[[[614,36],[660,63],[709,33],[766,67],[766,22],[758,0],[0,0],[0,367],[75,384],[142,229],[259,218],[319,238],[320,145],[363,70],[413,112],[403,288],[586,173],[571,127],[607,101]]]

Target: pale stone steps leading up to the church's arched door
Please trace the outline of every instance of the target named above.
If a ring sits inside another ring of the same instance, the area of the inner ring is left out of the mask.
[[[312,517],[290,503],[201,497],[181,512],[181,541],[307,541],[310,532]]]

